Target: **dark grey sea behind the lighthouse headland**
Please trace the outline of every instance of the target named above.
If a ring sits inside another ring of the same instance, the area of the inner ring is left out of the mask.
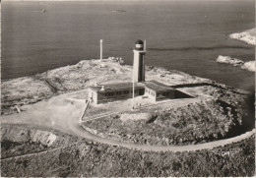
[[[103,57],[132,65],[135,41],[147,39],[146,65],[248,89],[254,73],[216,59],[254,60],[254,46],[228,38],[254,28],[254,8],[253,0],[3,2],[2,80],[99,58],[99,39]]]

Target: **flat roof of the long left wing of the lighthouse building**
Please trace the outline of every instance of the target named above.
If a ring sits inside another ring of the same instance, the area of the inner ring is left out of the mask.
[[[145,85],[143,83],[135,83],[134,84],[135,89],[144,89]],[[102,89],[103,90],[100,90]],[[114,91],[114,90],[122,90],[122,89],[132,89],[133,88],[133,83],[131,82],[126,82],[126,83],[114,83],[114,84],[102,84],[98,86],[90,86],[90,89],[93,89],[95,91],[102,91],[102,92],[107,92],[107,91]]]

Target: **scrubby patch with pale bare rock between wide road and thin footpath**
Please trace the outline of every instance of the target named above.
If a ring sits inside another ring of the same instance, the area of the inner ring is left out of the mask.
[[[19,125],[1,125],[1,158],[59,148],[78,138],[53,130],[32,129]]]

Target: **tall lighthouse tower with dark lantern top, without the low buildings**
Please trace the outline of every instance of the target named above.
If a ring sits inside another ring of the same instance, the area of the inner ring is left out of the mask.
[[[134,59],[133,59],[133,80],[134,82],[144,82],[145,81],[145,54],[144,42],[142,40],[137,40],[135,42]]]

